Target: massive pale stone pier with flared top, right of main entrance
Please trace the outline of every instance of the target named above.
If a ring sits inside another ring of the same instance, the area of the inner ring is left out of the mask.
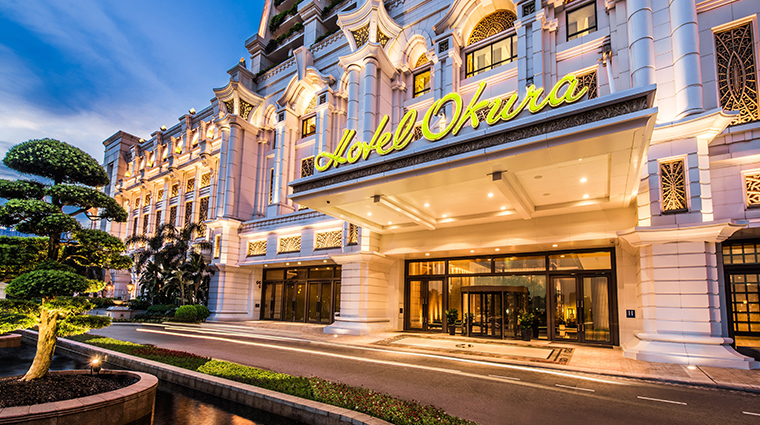
[[[720,318],[715,244],[731,223],[669,229],[637,227],[619,236],[639,248],[642,332],[623,342],[636,360],[750,369],[760,363],[731,348]]]

